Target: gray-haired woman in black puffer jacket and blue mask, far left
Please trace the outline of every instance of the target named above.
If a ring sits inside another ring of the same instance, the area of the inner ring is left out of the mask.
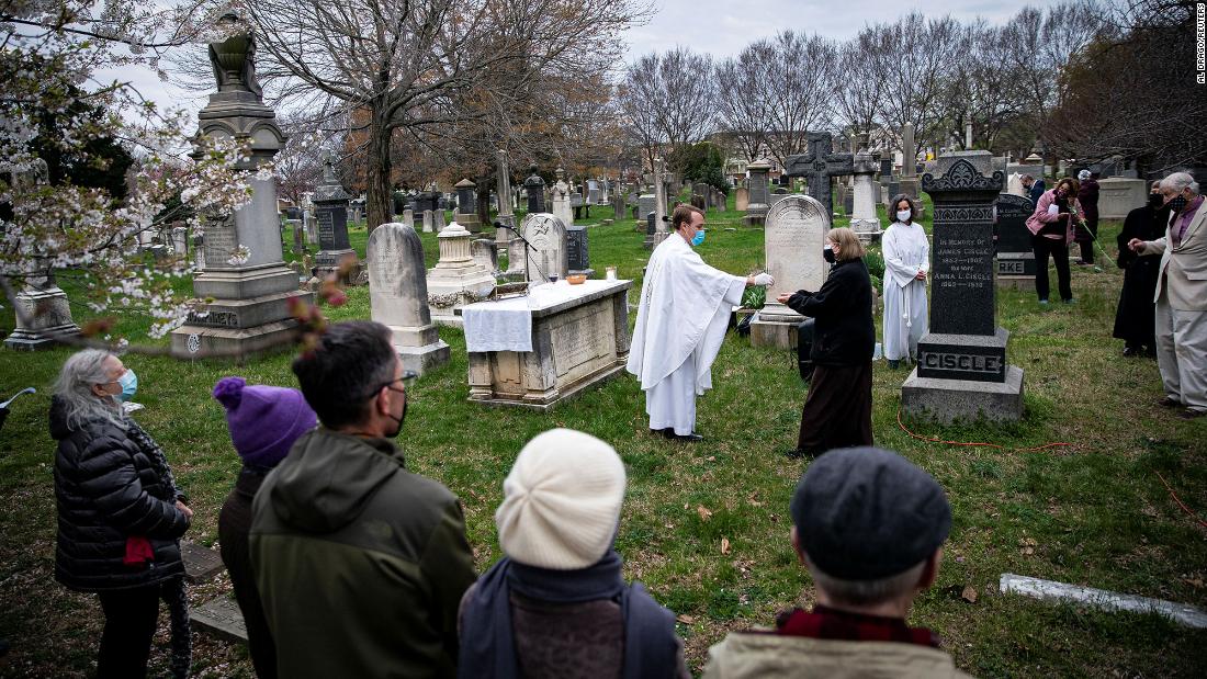
[[[63,364],[49,416],[58,441],[54,576],[100,598],[98,677],[146,675],[159,598],[168,598],[173,674],[181,677],[188,672],[188,621],[180,537],[193,511],[163,450],[122,410],[136,388],[134,371],[106,351],[83,350]]]

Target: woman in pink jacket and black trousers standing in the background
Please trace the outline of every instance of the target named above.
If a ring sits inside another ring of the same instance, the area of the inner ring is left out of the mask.
[[[1036,204],[1036,211],[1027,217],[1031,230],[1031,247],[1036,253],[1036,294],[1039,304],[1048,304],[1048,256],[1056,262],[1056,282],[1060,299],[1073,303],[1073,288],[1068,282],[1068,245],[1073,242],[1073,227],[1085,221],[1081,204],[1077,201],[1077,180],[1065,177],[1056,187],[1044,192]]]

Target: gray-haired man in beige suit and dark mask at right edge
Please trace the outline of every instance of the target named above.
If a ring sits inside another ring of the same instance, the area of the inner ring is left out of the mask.
[[[1133,238],[1136,254],[1160,254],[1156,274],[1156,363],[1165,398],[1179,417],[1207,415],[1207,207],[1199,182],[1189,172],[1161,180],[1170,210],[1165,235]],[[1185,406],[1183,409],[1183,406]]]

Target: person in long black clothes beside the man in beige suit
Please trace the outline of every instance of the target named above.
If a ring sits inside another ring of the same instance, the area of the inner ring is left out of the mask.
[[[1165,198],[1160,191],[1161,182],[1153,182],[1148,194],[1148,205],[1127,212],[1124,228],[1115,239],[1119,245],[1119,258],[1115,264],[1124,270],[1124,287],[1119,293],[1119,308],[1115,310],[1115,328],[1112,335],[1124,340],[1124,356],[1156,355],[1154,334],[1154,312],[1156,303],[1158,270],[1160,254],[1139,256],[1127,247],[1133,238],[1156,240],[1165,235],[1170,221],[1170,210],[1162,205]]]

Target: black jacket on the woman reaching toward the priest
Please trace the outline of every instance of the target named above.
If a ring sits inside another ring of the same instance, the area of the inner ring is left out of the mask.
[[[817,292],[788,298],[793,311],[816,318],[810,358],[835,368],[871,363],[876,326],[871,320],[871,279],[863,259],[839,262]]]

